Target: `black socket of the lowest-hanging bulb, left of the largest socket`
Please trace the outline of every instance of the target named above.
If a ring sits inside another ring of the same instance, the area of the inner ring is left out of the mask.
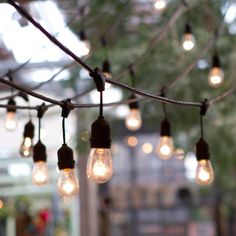
[[[73,150],[66,144],[63,144],[62,147],[57,151],[57,158],[59,170],[75,168]]]

